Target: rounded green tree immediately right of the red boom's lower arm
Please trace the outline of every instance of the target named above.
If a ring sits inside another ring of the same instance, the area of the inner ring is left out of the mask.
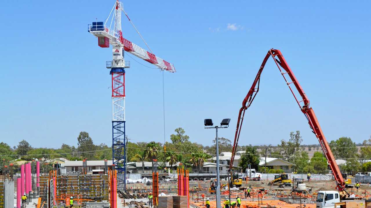
[[[336,141],[331,141],[329,146],[336,159],[347,160],[347,158],[357,157],[358,148],[349,137],[340,137]]]

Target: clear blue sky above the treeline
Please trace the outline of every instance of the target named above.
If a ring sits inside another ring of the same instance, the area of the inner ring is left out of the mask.
[[[0,138],[35,147],[76,145],[80,131],[111,143],[110,48],[88,33],[114,1],[6,1],[0,50]],[[327,140],[370,137],[370,1],[124,1],[154,53],[174,63],[165,73],[166,139],[177,127],[210,145],[204,118],[231,118],[220,137],[233,141],[237,113],[263,57],[281,50],[311,101]],[[145,48],[127,19],[123,36]],[[134,57],[134,56],[132,56]],[[163,142],[162,74],[130,57],[127,135]],[[273,60],[246,113],[240,144],[273,144],[301,131],[316,137]]]

